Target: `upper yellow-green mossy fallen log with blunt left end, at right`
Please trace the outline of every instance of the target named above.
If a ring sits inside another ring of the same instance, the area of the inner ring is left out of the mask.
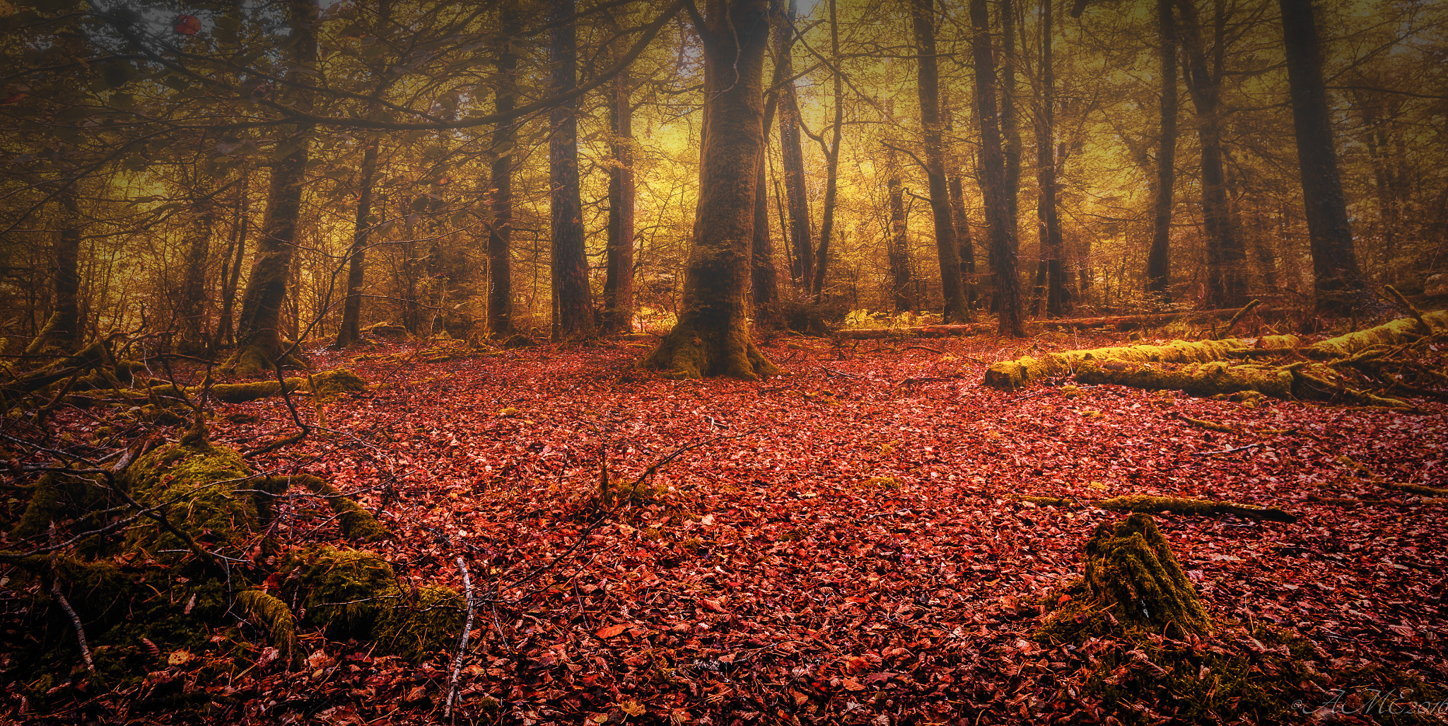
[[[1295,336],[1266,336],[1258,341],[1258,348],[1292,349],[1296,343],[1297,339]],[[1235,351],[1253,348],[1239,339],[1229,338],[1226,341],[1176,341],[1167,345],[1128,345],[1089,351],[1061,351],[1045,354],[1040,359],[1024,356],[1015,361],[993,364],[986,370],[983,383],[1009,391],[1045,378],[1070,375],[1087,362],[1114,365],[1206,364],[1229,358]]]

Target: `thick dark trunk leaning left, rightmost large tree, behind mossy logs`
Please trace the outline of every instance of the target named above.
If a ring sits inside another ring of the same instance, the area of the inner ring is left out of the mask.
[[[1292,120],[1297,133],[1297,164],[1306,201],[1318,312],[1348,313],[1376,306],[1352,251],[1352,226],[1332,145],[1328,90],[1312,0],[1280,0]]]

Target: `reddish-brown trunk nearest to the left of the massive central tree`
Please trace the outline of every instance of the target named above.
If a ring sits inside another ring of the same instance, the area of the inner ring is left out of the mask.
[[[610,332],[633,330],[633,106],[628,71],[614,77],[608,104],[615,165],[608,168],[608,275],[604,280],[604,326]]]

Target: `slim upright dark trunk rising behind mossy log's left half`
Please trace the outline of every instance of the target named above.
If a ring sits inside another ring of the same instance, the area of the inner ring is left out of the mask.
[[[1056,74],[1051,70],[1051,16],[1054,0],[1041,4],[1041,116],[1035,128],[1037,185],[1035,216],[1040,222],[1041,262],[1045,267],[1045,314],[1060,317],[1066,281],[1061,222],[1056,209]]]

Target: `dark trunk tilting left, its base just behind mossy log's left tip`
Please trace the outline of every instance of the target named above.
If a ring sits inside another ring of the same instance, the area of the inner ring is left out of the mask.
[[[980,120],[980,191],[986,199],[986,223],[995,258],[995,307],[1001,333],[1025,338],[1021,320],[1021,277],[1016,272],[1015,219],[1011,213],[1012,187],[1006,184],[1006,159],[1001,148],[1001,119],[996,116],[995,57],[990,48],[990,16],[986,0],[970,0],[970,41],[976,64],[976,116]]]

